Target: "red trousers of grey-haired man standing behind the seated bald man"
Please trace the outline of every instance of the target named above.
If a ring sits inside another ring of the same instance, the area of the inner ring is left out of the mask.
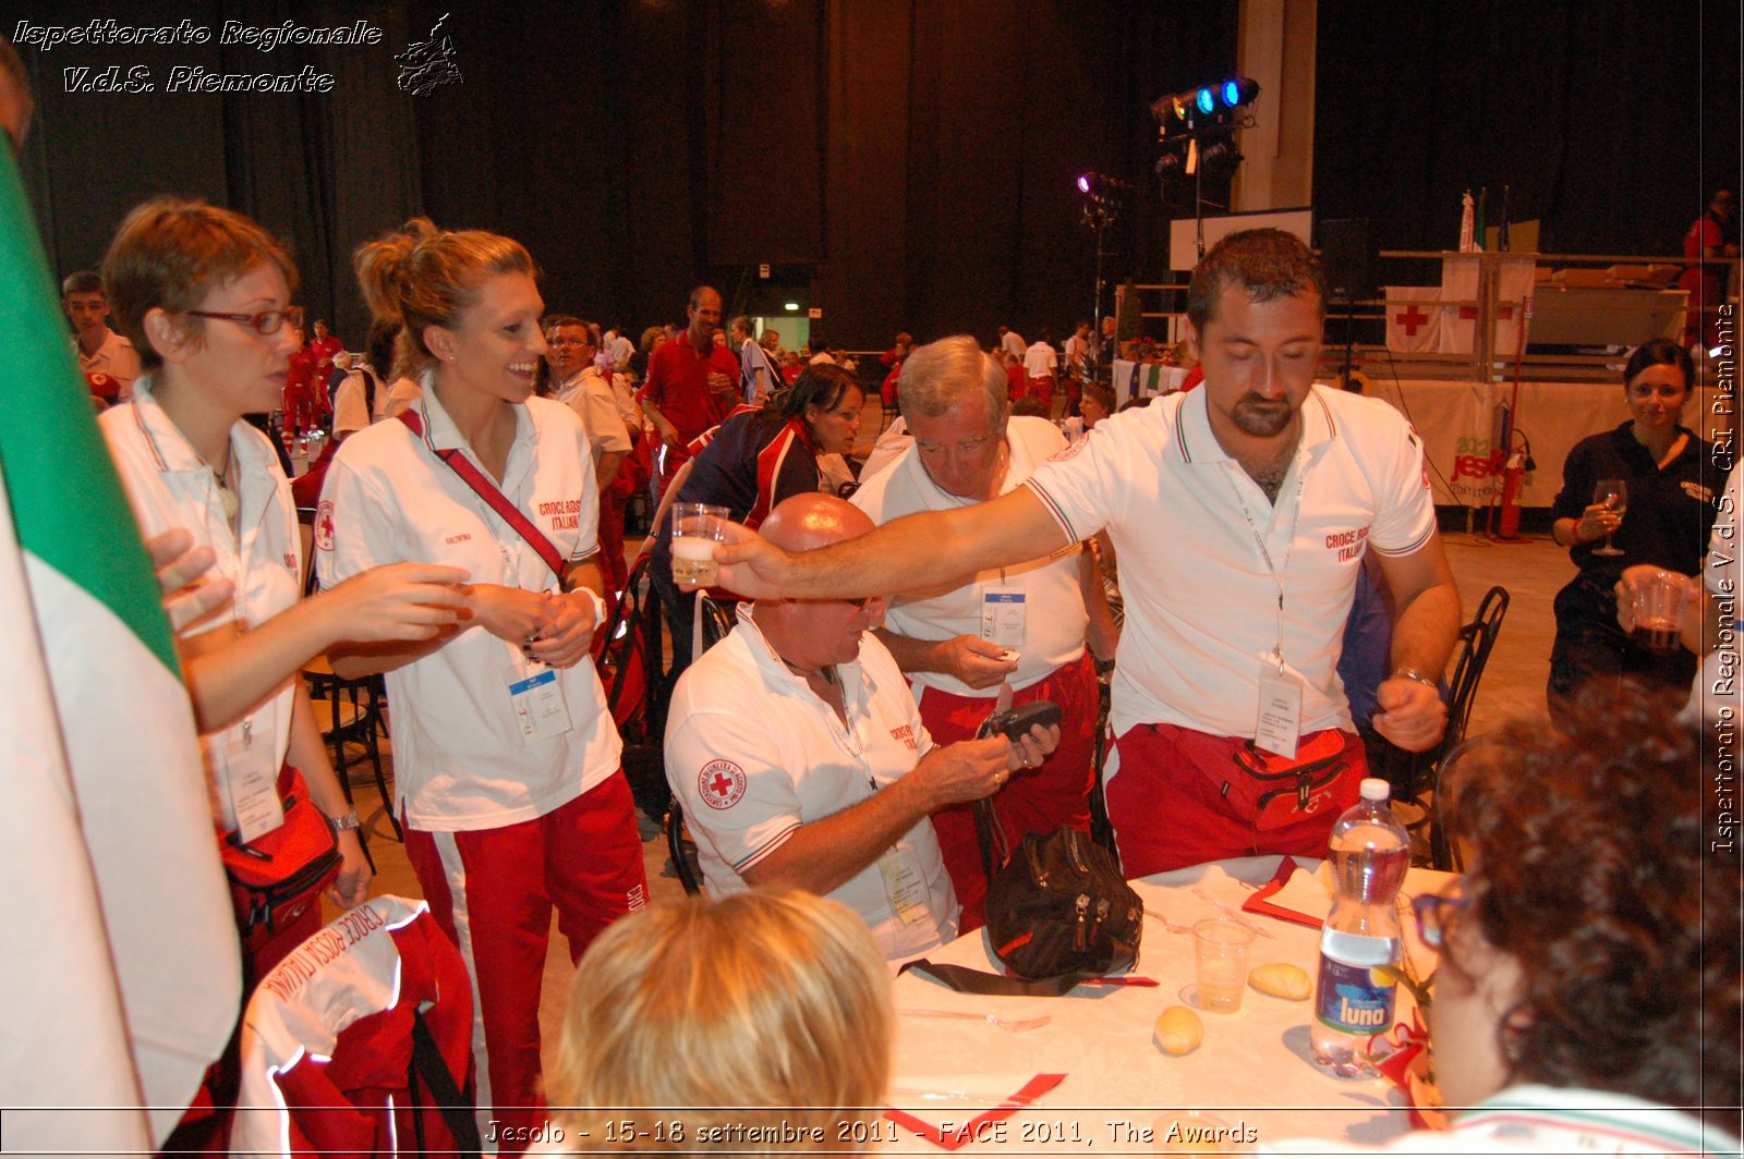
[[[1069,824],[1090,831],[1090,779],[1095,758],[1097,687],[1095,664],[1085,652],[1071,664],[1053,669],[1012,702],[1053,701],[1060,706],[1060,746],[1039,767],[1018,770],[994,793],[992,803],[1010,849],[1025,833],[1052,833]],[[937,744],[970,741],[992,713],[992,697],[968,697],[938,688],[921,690],[921,722]],[[947,805],[933,814],[933,833],[945,854],[945,870],[963,903],[959,932],[978,929],[987,901],[987,873],[982,868],[980,842],[975,838],[975,812],[970,805]]]

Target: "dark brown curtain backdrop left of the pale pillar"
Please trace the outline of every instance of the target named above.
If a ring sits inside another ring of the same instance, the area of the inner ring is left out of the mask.
[[[452,12],[464,84],[412,98],[392,54]],[[715,282],[729,308],[800,298],[816,333],[882,347],[1092,308],[1073,178],[1135,183],[1109,277],[1167,239],[1149,176],[1163,91],[1223,75],[1235,2],[579,0],[576,3],[49,0],[17,21],[113,16],[215,30],[368,19],[375,47],[23,47],[26,174],[51,260],[94,265],[126,209],[206,197],[290,239],[302,296],[361,342],[352,247],[413,213],[521,239],[553,308],[633,328]],[[68,92],[63,68],[152,70],[155,92]],[[171,94],[169,68],[333,73],[326,96]],[[773,277],[757,277],[769,263]]]

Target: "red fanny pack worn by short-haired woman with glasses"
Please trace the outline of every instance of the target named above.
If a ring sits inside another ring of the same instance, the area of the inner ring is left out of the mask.
[[[244,950],[260,948],[309,906],[319,905],[321,891],[338,877],[333,830],[309,800],[303,774],[291,765],[279,770],[279,802],[284,805],[279,828],[246,845],[235,833],[218,838]]]

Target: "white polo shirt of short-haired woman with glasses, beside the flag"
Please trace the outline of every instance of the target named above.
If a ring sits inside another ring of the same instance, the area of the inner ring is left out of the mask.
[[[267,436],[246,422],[230,427],[239,528],[239,535],[232,535],[211,467],[152,397],[150,375],[134,383],[127,403],[103,411],[98,425],[115,457],[140,532],[150,539],[171,528],[187,528],[197,547],[211,547],[218,556],[213,572],[235,584],[228,612],[218,612],[215,626],[241,622],[258,627],[296,603],[303,575],[296,505]],[[295,687],[296,681],[286,678],[228,729],[201,735],[213,821],[227,831],[235,828],[235,816],[227,795],[216,788],[225,783],[227,746],[241,746],[244,739],[249,748],[267,744],[272,767],[283,765],[291,744]]]

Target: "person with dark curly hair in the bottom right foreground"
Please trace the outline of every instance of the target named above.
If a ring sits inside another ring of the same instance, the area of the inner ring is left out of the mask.
[[[1388,1150],[1739,1152],[1739,859],[1704,823],[1728,779],[1674,713],[1587,697],[1449,769],[1468,871],[1416,913],[1454,1126]],[[1280,1150],[1315,1147],[1352,1150]]]

